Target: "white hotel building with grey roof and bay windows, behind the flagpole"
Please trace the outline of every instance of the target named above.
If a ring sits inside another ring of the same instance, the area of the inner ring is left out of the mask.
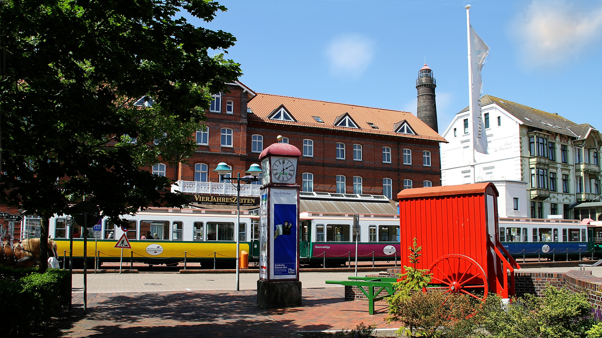
[[[449,141],[441,144],[442,185],[493,182],[499,216],[509,218],[580,219],[574,204],[600,201],[597,129],[489,95],[481,105],[488,154],[474,152],[471,165],[469,111],[458,112],[442,134]]]

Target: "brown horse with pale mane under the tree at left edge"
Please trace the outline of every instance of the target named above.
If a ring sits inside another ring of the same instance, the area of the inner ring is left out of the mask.
[[[13,268],[31,268],[40,258],[40,239],[26,238],[20,243],[5,241],[0,244],[0,265]],[[57,244],[48,239],[48,257],[57,257]]]

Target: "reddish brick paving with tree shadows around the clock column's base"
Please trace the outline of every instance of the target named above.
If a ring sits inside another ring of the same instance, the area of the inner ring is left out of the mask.
[[[256,291],[119,292],[88,294],[88,315],[63,337],[299,337],[299,331],[337,331],[360,322],[387,325],[386,303],[368,315],[365,301],[344,301],[343,288],[303,289],[303,305],[260,309]],[[83,294],[73,293],[80,308]]]

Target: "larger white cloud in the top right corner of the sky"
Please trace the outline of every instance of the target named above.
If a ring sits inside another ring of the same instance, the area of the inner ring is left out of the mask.
[[[553,66],[588,52],[602,35],[602,6],[584,2],[533,0],[517,20],[524,61]]]

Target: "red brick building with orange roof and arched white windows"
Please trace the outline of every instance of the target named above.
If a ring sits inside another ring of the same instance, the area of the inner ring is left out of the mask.
[[[441,185],[439,134],[409,112],[256,93],[228,85],[214,96],[197,150],[177,168],[154,171],[182,181],[218,182],[219,162],[233,175],[258,163],[277,135],[303,152],[297,182],[304,191],[388,195]]]

